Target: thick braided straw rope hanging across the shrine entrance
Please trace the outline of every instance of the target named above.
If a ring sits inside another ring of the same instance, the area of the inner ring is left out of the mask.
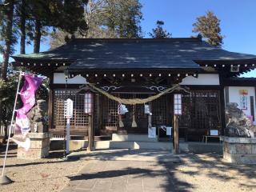
[[[102,89],[99,89],[98,87],[94,86],[91,83],[88,83],[88,85],[91,88],[93,88],[94,90],[97,90],[99,93],[104,94],[107,98],[110,98],[116,102],[126,104],[126,105],[137,105],[137,104],[144,104],[146,102],[152,102],[153,100],[160,98],[163,94],[171,93],[174,90],[184,90],[184,91],[188,92],[187,90],[183,89],[178,84],[175,84],[174,86],[162,91],[160,94],[156,94],[156,95],[150,96],[148,98],[118,98],[112,94],[107,93],[106,91],[104,91]]]

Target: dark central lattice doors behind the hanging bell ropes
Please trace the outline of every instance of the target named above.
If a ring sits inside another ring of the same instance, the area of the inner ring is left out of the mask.
[[[147,98],[150,94],[114,94],[120,98]],[[104,97],[103,101],[103,129],[117,131],[122,134],[147,134],[148,133],[148,115],[144,113],[144,105],[134,106],[126,105],[128,113],[122,115],[124,127],[118,127],[118,102]],[[166,125],[171,126],[172,114],[170,113],[171,98],[170,95],[163,95],[161,98],[150,102],[152,112],[152,126]],[[133,110],[135,112],[135,122],[137,127],[132,127]]]

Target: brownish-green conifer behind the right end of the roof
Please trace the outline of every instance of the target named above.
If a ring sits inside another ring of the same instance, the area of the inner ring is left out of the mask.
[[[192,31],[201,34],[210,45],[222,46],[224,36],[221,34],[220,22],[213,12],[208,11],[206,15],[197,18]]]

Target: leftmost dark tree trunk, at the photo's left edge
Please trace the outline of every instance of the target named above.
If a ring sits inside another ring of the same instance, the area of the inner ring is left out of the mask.
[[[5,46],[3,50],[3,62],[1,67],[1,78],[6,80],[7,78],[7,67],[10,57],[10,46],[12,43],[12,30],[13,30],[13,19],[14,19],[14,0],[6,1],[6,30],[5,30]]]

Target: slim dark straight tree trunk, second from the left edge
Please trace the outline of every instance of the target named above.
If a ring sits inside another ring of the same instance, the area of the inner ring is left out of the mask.
[[[20,42],[20,54],[26,54],[26,5],[25,0],[22,0],[21,15],[20,15],[20,30],[21,30],[21,42]]]

